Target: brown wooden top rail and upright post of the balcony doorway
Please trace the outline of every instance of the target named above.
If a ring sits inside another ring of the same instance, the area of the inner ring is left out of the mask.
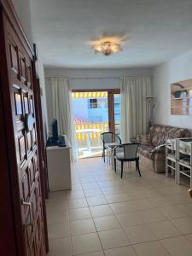
[[[107,91],[108,92],[108,128],[109,131],[115,132],[114,123],[114,94],[120,94],[120,89],[83,89],[83,90],[72,90],[72,92],[93,92],[93,91]]]

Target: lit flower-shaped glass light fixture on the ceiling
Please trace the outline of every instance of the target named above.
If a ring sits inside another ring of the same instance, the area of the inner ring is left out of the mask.
[[[95,50],[95,53],[102,53],[105,56],[112,55],[115,52],[122,51],[122,47],[119,44],[120,38],[101,38],[96,41],[92,41],[90,44]]]

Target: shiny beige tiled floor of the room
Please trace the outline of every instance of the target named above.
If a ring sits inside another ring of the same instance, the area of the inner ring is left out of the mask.
[[[121,180],[101,158],[72,168],[72,191],[47,201],[49,256],[191,256],[188,186],[146,168]]]

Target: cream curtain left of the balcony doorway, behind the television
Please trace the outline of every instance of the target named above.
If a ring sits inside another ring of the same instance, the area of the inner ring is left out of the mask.
[[[53,117],[58,121],[59,134],[66,134],[72,146],[72,160],[78,160],[72,111],[72,91],[67,77],[50,78],[53,102]]]

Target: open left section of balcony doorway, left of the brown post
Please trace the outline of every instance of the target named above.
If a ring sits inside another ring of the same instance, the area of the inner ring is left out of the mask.
[[[73,92],[73,119],[79,158],[101,156],[101,133],[108,131],[108,91]]]

